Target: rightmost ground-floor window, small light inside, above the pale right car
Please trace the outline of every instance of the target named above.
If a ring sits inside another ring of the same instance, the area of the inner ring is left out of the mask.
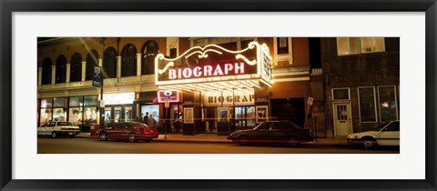
[[[394,87],[394,85],[378,87],[381,122],[396,120],[398,118]]]

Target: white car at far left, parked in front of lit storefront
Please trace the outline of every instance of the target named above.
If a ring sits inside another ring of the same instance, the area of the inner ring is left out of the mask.
[[[45,125],[37,127],[37,136],[52,136],[53,138],[69,136],[73,138],[79,133],[79,126],[73,126],[70,122],[47,122]]]

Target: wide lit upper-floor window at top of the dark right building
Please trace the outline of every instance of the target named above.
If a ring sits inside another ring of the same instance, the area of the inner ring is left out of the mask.
[[[338,37],[338,55],[357,55],[362,53],[384,52],[383,37]]]

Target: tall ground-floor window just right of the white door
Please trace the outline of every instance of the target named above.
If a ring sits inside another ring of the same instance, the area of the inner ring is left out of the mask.
[[[360,121],[376,122],[375,87],[358,87]]]

